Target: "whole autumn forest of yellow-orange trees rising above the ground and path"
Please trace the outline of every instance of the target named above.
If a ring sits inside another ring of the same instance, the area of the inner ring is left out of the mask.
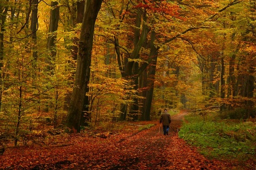
[[[164,108],[256,116],[256,1],[0,1],[0,147]]]

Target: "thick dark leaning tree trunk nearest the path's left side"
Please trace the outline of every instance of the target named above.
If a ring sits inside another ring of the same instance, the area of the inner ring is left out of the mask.
[[[90,80],[94,25],[102,0],[91,0],[87,4],[79,38],[75,83],[68,110],[67,126],[80,132],[85,94]]]

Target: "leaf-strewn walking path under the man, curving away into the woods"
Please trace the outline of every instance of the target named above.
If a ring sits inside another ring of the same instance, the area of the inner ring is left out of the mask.
[[[159,123],[103,151],[94,166],[83,163],[77,169],[231,169],[232,165],[218,160],[208,160],[178,138],[176,130],[181,127],[187,114],[181,111],[172,116],[170,135],[159,133]],[[161,127],[161,126],[160,126]],[[111,156],[111,157],[109,157]],[[111,162],[111,163],[110,163]]]

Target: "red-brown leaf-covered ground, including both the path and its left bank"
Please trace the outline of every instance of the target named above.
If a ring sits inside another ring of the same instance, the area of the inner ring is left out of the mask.
[[[185,114],[172,116],[169,135],[163,135],[157,121],[131,122],[155,126],[137,132],[71,134],[52,146],[6,148],[0,169],[241,169],[235,161],[209,160],[179,139],[174,130]]]

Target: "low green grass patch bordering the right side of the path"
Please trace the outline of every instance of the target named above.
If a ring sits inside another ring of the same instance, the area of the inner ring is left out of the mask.
[[[252,159],[256,155],[256,124],[239,120],[221,120],[210,113],[188,115],[179,137],[197,146],[208,158]]]

